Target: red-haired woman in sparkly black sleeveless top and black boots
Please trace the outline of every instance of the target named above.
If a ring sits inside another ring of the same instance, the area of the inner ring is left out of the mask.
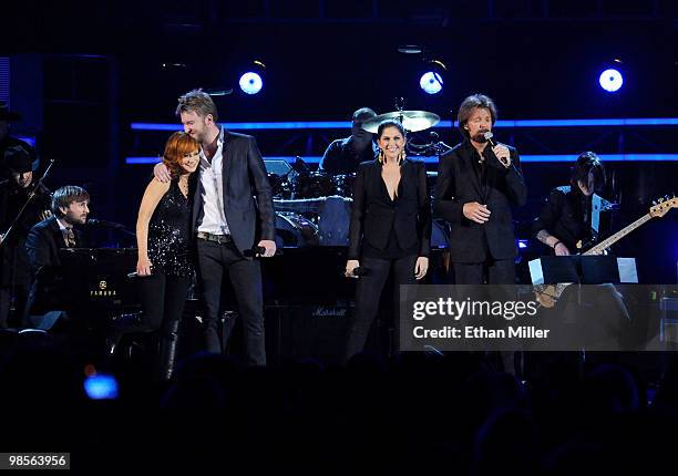
[[[201,145],[183,132],[170,136],[163,163],[170,183],[153,178],[138,209],[136,275],[143,312],[113,322],[107,352],[130,332],[160,332],[160,376],[168,380],[174,368],[178,327],[194,273],[191,256],[191,195],[188,178],[199,164]]]

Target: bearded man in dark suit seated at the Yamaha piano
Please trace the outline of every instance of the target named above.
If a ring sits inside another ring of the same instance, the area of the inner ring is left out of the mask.
[[[82,234],[74,228],[84,225],[90,214],[90,194],[84,188],[66,185],[52,195],[52,213],[54,216],[35,224],[25,239],[33,283],[28,299],[25,315],[42,313],[42,299],[37,293],[35,276],[44,267],[61,266],[59,250],[62,248],[82,248]],[[35,322],[28,322],[35,325]]]

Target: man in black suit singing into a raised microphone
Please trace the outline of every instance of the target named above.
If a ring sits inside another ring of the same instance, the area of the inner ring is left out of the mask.
[[[459,111],[464,141],[440,157],[433,209],[451,225],[450,258],[458,284],[515,283],[511,208],[525,204],[527,190],[515,148],[487,146],[484,134],[495,122],[490,97],[466,97]]]

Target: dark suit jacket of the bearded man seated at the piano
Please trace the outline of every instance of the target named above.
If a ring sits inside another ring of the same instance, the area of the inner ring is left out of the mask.
[[[73,232],[75,235],[75,247],[82,248],[84,246],[82,234],[75,228],[73,228]],[[65,248],[65,241],[55,217],[42,220],[31,228],[25,239],[25,251],[33,277],[43,266],[61,266],[61,258],[59,257],[61,248]]]

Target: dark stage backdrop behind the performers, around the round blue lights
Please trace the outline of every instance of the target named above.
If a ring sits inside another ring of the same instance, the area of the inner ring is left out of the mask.
[[[675,2],[14,3],[0,32],[0,55],[12,65],[12,108],[29,112],[14,130],[35,137],[44,159],[58,161],[52,187],[84,185],[94,215],[130,228],[151,166],[124,158],[157,155],[168,136],[130,124],[176,121],[177,96],[196,86],[234,89],[216,100],[228,122],[345,121],[360,106],[392,111],[397,96],[407,108],[451,120],[475,92],[496,101],[500,118],[678,117]],[[399,53],[401,44],[419,44],[444,62],[441,94],[419,89],[421,58]],[[266,64],[265,85],[247,96],[237,77],[255,59]],[[613,64],[625,84],[608,94],[597,77]],[[453,130],[438,132],[450,145],[459,141]],[[346,133],[255,135],[264,155],[317,156]],[[497,130],[496,136],[522,154],[573,159],[584,149],[678,152],[676,126]],[[620,204],[619,226],[678,189],[676,164],[608,164],[615,180],[607,196]],[[521,238],[547,190],[568,176],[566,164],[524,170],[530,200],[516,214]],[[646,282],[676,280],[676,220],[674,211],[620,244],[620,253],[638,256]]]

